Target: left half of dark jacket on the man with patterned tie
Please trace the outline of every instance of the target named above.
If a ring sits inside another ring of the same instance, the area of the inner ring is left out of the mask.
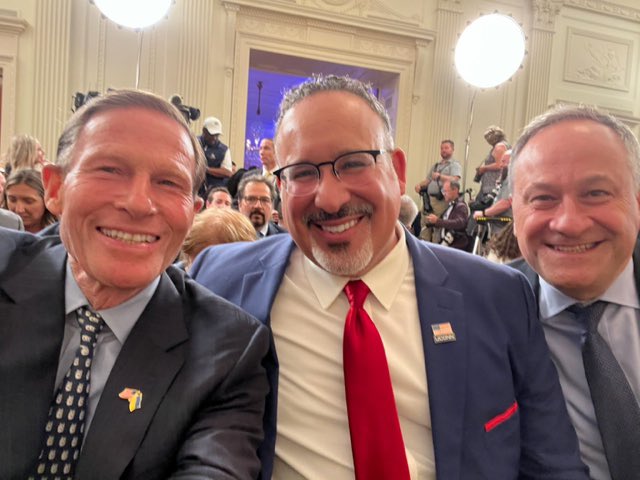
[[[35,257],[18,252],[12,265],[1,267],[7,275],[0,281],[0,478],[27,476],[53,397],[64,333],[65,251],[41,245],[46,249]]]

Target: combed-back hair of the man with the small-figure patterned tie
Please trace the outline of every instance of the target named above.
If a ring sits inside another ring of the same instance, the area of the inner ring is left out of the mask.
[[[180,110],[163,98],[149,92],[140,90],[114,90],[100,97],[95,97],[83,105],[82,108],[72,115],[65,125],[62,135],[60,135],[55,161],[56,165],[62,167],[65,172],[69,169],[73,149],[82,133],[82,129],[89,120],[102,112],[124,108],[143,108],[158,112],[174,120],[180,125],[182,130],[189,135],[195,155],[195,169],[192,178],[193,194],[195,196],[200,185],[204,182],[206,169],[206,160],[200,142],[193,132],[189,130],[189,126]]]

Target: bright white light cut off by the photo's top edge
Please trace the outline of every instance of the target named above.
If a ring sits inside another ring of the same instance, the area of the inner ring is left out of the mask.
[[[167,14],[171,0],[94,0],[109,20],[129,28],[145,28]]]

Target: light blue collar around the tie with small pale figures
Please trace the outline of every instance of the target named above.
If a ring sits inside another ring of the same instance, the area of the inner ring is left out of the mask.
[[[65,303],[65,315],[74,312],[80,307],[89,305],[87,297],[85,297],[82,290],[78,286],[71,267],[67,261],[67,274],[65,276],[64,285],[64,303]],[[147,287],[145,287],[140,293],[130,298],[124,303],[105,310],[98,310],[100,316],[104,319],[104,323],[111,329],[121,344],[129,336],[129,332],[142,315],[142,312],[146,308],[147,304],[153,297],[160,283],[160,277],[153,280]]]

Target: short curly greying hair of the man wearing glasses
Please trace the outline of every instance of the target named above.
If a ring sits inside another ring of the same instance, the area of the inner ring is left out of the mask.
[[[382,120],[384,127],[385,148],[393,150],[393,135],[391,132],[391,120],[389,114],[375,95],[371,92],[371,85],[360,80],[349,78],[348,76],[337,75],[314,75],[300,85],[285,92],[280,108],[278,110],[278,120],[276,121],[276,137],[280,132],[280,125],[286,113],[298,102],[311,95],[320,92],[347,92],[360,97]]]

